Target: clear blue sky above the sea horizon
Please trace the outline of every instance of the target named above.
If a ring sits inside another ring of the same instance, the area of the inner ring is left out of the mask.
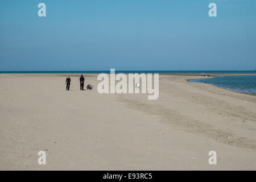
[[[255,50],[255,0],[0,1],[0,71],[254,70]]]

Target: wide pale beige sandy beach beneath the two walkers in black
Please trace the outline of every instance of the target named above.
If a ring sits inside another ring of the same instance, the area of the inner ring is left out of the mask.
[[[256,169],[255,96],[161,75],[147,100],[99,94],[96,75],[80,91],[71,78],[66,91],[65,75],[0,75],[0,169]]]

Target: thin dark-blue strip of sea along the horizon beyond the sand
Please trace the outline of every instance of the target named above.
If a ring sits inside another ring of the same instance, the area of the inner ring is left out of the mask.
[[[256,71],[117,71],[115,73],[205,73],[209,75],[211,73],[255,73]],[[110,73],[110,69],[108,71],[0,71],[1,73],[88,73],[88,74],[98,74],[98,73]]]

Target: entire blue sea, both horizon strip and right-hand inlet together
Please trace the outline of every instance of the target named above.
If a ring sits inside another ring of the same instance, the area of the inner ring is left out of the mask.
[[[108,71],[0,71],[1,73],[84,73],[84,74],[99,74],[99,73],[110,73]],[[210,74],[256,74],[256,71],[118,71],[115,73],[159,73],[159,74],[176,74],[176,73],[186,73],[186,74],[199,74],[205,73]],[[192,82],[207,83],[211,85],[216,85],[221,88],[234,90],[237,92],[244,93],[256,93],[256,75],[234,75],[234,76],[218,76],[213,78],[200,78],[190,80]]]

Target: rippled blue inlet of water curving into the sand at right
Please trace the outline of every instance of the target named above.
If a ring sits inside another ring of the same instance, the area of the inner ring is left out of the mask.
[[[220,76],[190,80],[220,86],[237,92],[256,93],[256,75]]]

